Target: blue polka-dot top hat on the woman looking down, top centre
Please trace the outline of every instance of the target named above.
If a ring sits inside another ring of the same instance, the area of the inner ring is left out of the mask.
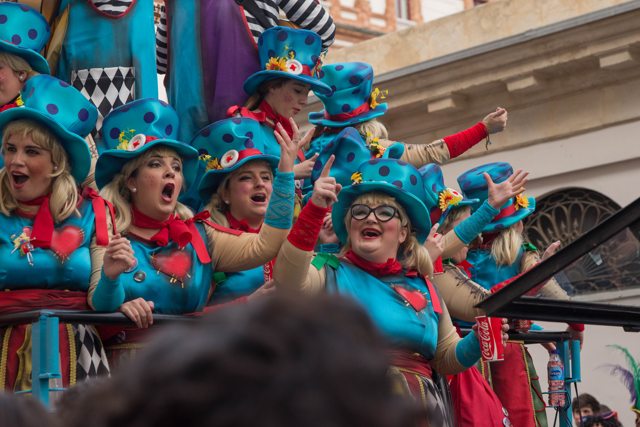
[[[314,92],[331,92],[329,86],[318,79],[324,56],[321,50],[322,39],[313,31],[289,27],[266,29],[258,37],[262,71],[246,79],[244,92],[253,95],[260,83],[278,77],[307,83]]]

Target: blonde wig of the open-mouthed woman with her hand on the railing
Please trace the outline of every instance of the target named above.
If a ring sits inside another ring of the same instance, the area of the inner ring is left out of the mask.
[[[180,159],[177,152],[170,147],[158,145],[129,160],[122,166],[122,171],[115,175],[109,184],[100,189],[100,195],[104,200],[111,202],[116,210],[116,230],[118,230],[119,233],[124,234],[129,230],[129,227],[131,227],[132,199],[131,191],[129,191],[129,187],[127,187],[127,180],[129,177],[136,177],[136,175],[138,175],[138,168],[153,156],[175,157]],[[180,166],[182,166],[181,159]],[[182,167],[180,167],[180,176],[182,177],[182,189],[185,189],[186,184],[184,182],[184,175],[182,175]],[[181,220],[187,220],[193,216],[191,209],[180,202],[176,202],[173,213],[180,215]]]

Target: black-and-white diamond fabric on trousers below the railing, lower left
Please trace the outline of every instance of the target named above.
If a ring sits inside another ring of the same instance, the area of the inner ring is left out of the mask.
[[[98,334],[90,325],[71,325],[76,341],[76,381],[109,375],[109,363]]]

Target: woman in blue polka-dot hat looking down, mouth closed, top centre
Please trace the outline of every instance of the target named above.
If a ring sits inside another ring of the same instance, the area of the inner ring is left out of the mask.
[[[289,27],[269,28],[258,38],[258,51],[263,69],[244,82],[244,92],[250,98],[246,104],[232,106],[228,117],[250,117],[264,127],[265,154],[280,155],[276,140],[278,127],[289,138],[300,140],[293,117],[307,105],[310,90],[331,92],[318,76],[324,60],[321,54],[322,40],[317,33]],[[300,151],[300,161],[304,154]],[[296,179],[310,176],[313,161],[294,166]]]

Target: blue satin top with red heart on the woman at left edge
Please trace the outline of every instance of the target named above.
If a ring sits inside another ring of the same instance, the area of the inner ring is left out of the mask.
[[[0,214],[0,289],[87,291],[91,278],[89,245],[95,234],[95,215],[90,200],[84,200],[77,209],[80,218],[72,213],[62,222],[54,223],[51,248],[33,249],[33,266],[29,265],[28,255],[20,256],[20,248],[12,254],[15,246],[11,239],[14,232],[26,231],[29,236],[33,220],[15,213]]]

